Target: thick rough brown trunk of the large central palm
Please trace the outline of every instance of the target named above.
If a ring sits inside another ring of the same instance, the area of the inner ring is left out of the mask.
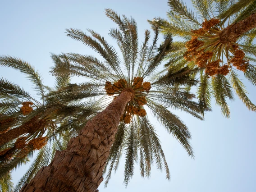
[[[50,165],[42,167],[21,192],[98,191],[119,119],[132,96],[131,91],[123,91],[88,121],[78,137],[70,139],[67,149],[57,151]]]

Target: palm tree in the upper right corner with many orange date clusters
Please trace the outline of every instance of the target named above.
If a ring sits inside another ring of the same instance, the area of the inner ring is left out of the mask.
[[[243,72],[256,85],[256,67],[252,64],[256,61],[256,46],[252,44],[256,37],[256,1],[192,0],[195,11],[181,0],[169,0],[168,5],[169,21],[149,21],[160,26],[162,32],[182,38],[173,43],[165,67],[174,71],[185,65],[203,69],[197,91],[199,102],[209,107],[214,96],[228,118],[226,99],[234,100],[232,87],[247,108],[256,111],[239,78]]]

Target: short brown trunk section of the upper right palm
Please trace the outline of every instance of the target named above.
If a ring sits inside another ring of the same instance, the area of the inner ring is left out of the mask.
[[[239,36],[255,27],[256,14],[251,14],[248,18],[224,28],[224,30],[219,34],[220,42],[235,42]]]

